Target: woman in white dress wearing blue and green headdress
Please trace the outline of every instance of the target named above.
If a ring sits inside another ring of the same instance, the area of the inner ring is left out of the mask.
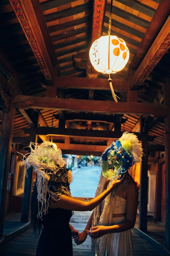
[[[128,170],[140,162],[143,150],[136,135],[124,132],[122,137],[106,148],[100,161],[102,174],[96,195],[110,186],[121,174],[122,183],[95,208],[79,237],[77,244],[92,238],[92,256],[132,256],[132,233],[135,225],[138,192],[136,182]]]

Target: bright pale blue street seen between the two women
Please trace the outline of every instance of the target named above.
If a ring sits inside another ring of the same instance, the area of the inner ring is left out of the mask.
[[[94,197],[100,173],[101,167],[99,166],[86,166],[72,170],[71,195],[73,197]]]

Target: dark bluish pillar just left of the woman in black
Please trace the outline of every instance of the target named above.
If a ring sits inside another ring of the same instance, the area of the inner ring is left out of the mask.
[[[35,128],[30,129],[30,142],[36,142]],[[32,188],[32,171],[33,168],[27,170],[28,177],[25,178],[24,194],[22,200],[22,213],[21,222],[29,221],[29,210],[30,210],[30,199],[31,199],[31,188]]]

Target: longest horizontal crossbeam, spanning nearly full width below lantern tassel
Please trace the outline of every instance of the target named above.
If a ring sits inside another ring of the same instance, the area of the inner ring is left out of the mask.
[[[42,100],[43,99],[43,100]],[[159,103],[138,103],[138,102],[114,102],[99,100],[79,100],[79,99],[55,99],[38,96],[18,95],[14,101],[15,108],[23,109],[60,109],[74,110],[95,113],[136,113],[152,114],[155,116],[166,116],[170,112],[169,107]]]

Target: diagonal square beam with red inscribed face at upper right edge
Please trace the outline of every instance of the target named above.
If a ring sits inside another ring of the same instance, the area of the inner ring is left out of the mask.
[[[152,44],[145,58],[142,60],[139,68],[129,81],[131,90],[137,90],[143,83],[158,61],[163,57],[170,47],[170,16],[160,30],[156,40]]]

